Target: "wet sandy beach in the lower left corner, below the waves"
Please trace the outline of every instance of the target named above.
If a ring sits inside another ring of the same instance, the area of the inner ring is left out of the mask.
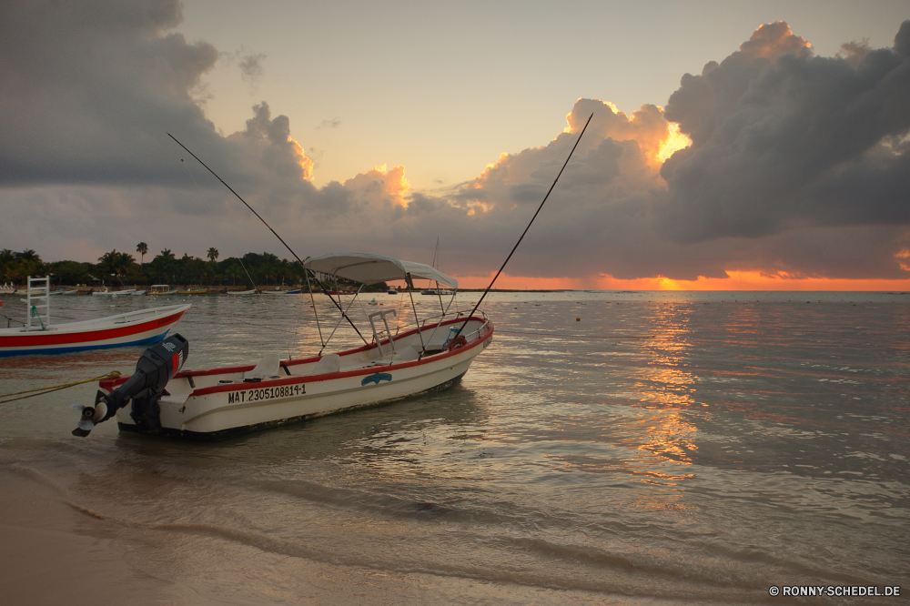
[[[168,557],[167,532],[129,531],[69,500],[43,474],[0,466],[0,595],[16,606],[232,604],[652,604],[586,591],[389,573],[290,558],[200,536],[200,557]],[[86,512],[87,511],[87,512]],[[97,513],[97,512],[96,512]],[[204,533],[203,533],[204,534]],[[160,535],[160,536],[158,536]],[[201,545],[205,543],[205,546]],[[222,557],[205,557],[213,552]],[[162,561],[167,565],[162,567]],[[145,562],[145,563],[143,563]],[[164,572],[163,570],[164,569]],[[248,582],[255,577],[256,582]],[[268,591],[262,591],[268,586]],[[254,589],[256,588],[256,589]]]

